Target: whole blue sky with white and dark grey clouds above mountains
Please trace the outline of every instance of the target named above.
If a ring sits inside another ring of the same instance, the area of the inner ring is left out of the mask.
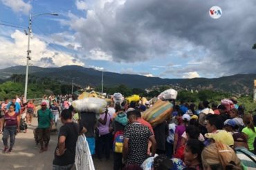
[[[256,73],[255,9],[255,0],[0,0],[0,68],[26,64],[30,12],[55,12],[33,18],[33,65],[162,78]]]

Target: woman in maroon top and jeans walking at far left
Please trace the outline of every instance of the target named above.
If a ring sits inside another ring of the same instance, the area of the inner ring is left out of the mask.
[[[15,136],[19,132],[20,116],[15,112],[15,105],[10,104],[8,112],[4,115],[5,126],[3,130],[3,153],[10,153],[15,145]],[[8,138],[10,136],[10,147],[8,148]]]

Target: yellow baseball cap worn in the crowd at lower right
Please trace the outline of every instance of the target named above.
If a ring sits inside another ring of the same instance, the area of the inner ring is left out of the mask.
[[[205,138],[212,138],[213,140],[221,142],[228,146],[234,145],[234,139],[232,134],[225,130],[219,130],[215,133],[205,134]]]

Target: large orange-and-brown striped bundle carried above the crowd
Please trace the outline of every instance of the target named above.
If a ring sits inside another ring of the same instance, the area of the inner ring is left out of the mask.
[[[157,100],[157,102],[143,112],[143,119],[152,126],[163,123],[172,114],[173,105],[168,101]]]

